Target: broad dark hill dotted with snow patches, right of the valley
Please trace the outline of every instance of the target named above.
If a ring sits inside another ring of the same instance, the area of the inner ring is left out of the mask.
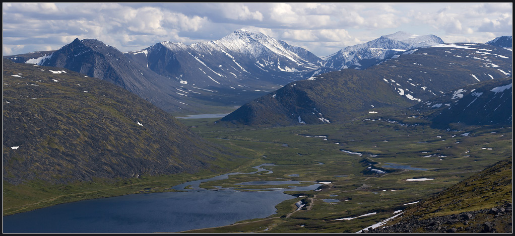
[[[511,75],[511,53],[484,44],[413,49],[366,70],[344,69],[297,81],[220,121],[249,125],[340,122],[434,98]]]

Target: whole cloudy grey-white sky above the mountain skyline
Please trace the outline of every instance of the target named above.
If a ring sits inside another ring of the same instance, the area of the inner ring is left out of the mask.
[[[512,3],[3,3],[3,55],[56,50],[75,38],[122,52],[260,31],[318,57],[405,31],[445,43],[512,35]]]

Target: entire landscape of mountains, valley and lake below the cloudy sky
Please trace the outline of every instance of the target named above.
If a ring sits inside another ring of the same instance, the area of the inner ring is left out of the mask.
[[[511,41],[4,56],[4,232],[512,232]]]

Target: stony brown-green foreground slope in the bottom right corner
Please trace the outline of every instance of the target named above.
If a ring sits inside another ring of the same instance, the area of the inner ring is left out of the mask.
[[[511,232],[511,157],[442,191],[383,227],[385,232]]]

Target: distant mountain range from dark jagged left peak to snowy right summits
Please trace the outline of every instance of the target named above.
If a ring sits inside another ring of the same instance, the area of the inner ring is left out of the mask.
[[[291,81],[351,64],[365,69],[407,49],[436,43],[443,41],[434,35],[397,32],[319,58],[264,33],[242,29],[216,41],[192,45],[165,41],[124,53],[95,39],[76,39],[59,50],[4,58],[71,69],[123,87],[169,113],[194,114],[243,105]]]

